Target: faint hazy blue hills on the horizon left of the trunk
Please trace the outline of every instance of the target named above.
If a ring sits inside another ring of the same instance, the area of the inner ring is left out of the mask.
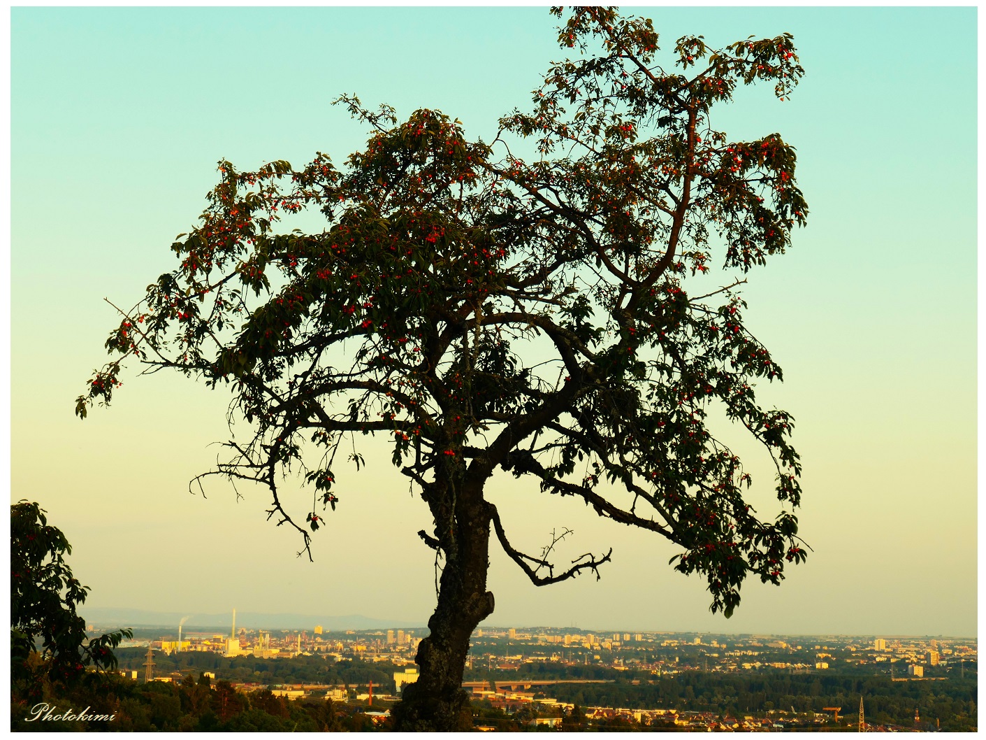
[[[150,612],[143,609],[122,608],[90,608],[83,606],[79,615],[86,622],[101,628],[123,627],[177,627],[182,618],[186,631],[196,628],[230,629],[233,624],[233,613],[223,614],[189,614],[188,612]],[[409,620],[378,620],[364,617],[361,614],[326,617],[324,615],[305,614],[261,614],[259,612],[237,612],[237,627],[246,629],[314,629],[316,625],[326,631],[339,629],[392,629],[420,628],[423,622]]]

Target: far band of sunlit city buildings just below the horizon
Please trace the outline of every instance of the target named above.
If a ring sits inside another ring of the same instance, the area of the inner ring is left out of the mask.
[[[135,643],[172,653],[210,651],[226,657],[290,658],[323,655],[397,666],[413,663],[424,629],[325,632],[320,626],[280,632],[236,629],[229,634],[190,632]],[[468,668],[512,671],[550,662],[650,670],[658,676],[680,671],[828,671],[869,666],[894,680],[931,680],[964,675],[975,661],[974,639],[943,637],[778,637],[757,634],[607,632],[571,629],[476,629]],[[956,671],[957,669],[957,671]],[[952,673],[955,672],[955,673]]]

